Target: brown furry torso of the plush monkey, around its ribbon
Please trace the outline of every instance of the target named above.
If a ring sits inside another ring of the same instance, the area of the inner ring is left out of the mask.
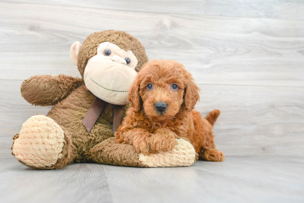
[[[67,98],[58,102],[47,114],[72,135],[73,144],[77,148],[75,162],[91,161],[91,157],[86,152],[96,144],[113,136],[112,104],[107,103],[90,132],[82,123],[83,117],[92,106],[95,98],[96,96],[84,87],[79,87]],[[123,109],[123,116],[125,116],[126,110],[127,106]]]

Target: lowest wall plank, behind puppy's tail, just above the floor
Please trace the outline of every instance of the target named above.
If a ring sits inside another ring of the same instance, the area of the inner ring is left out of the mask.
[[[35,107],[20,95],[21,81],[1,81],[0,156],[11,157],[11,137],[22,123],[51,107]],[[217,148],[227,156],[304,153],[304,88],[281,86],[199,85],[196,110],[221,115],[213,128]]]

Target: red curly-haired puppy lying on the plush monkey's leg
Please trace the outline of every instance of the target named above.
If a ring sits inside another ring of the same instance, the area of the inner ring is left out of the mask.
[[[215,149],[212,126],[220,115],[213,110],[201,118],[194,106],[199,87],[180,63],[152,60],[136,76],[128,94],[131,107],[115,137],[145,155],[174,148],[175,138],[190,140],[199,159],[224,161]]]

